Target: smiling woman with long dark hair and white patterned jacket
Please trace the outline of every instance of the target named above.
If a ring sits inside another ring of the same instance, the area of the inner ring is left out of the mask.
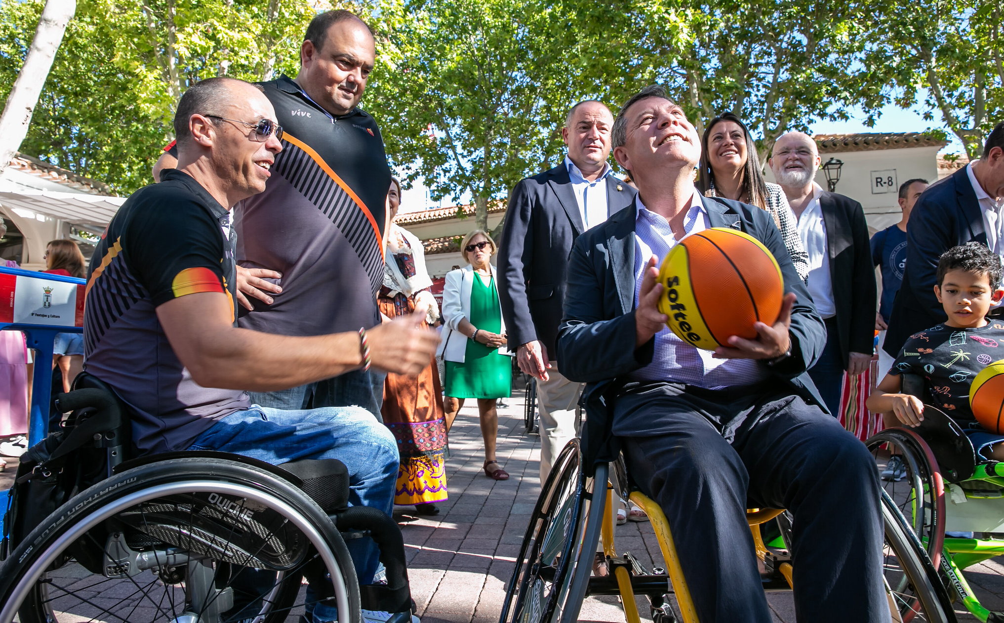
[[[706,197],[742,201],[770,212],[791,255],[791,263],[805,280],[809,272],[808,255],[798,237],[798,221],[784,190],[763,179],[756,143],[739,117],[725,113],[711,120],[701,138],[698,167],[697,187]]]

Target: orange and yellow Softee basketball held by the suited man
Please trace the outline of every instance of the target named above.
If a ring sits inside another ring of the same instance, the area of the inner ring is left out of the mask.
[[[753,324],[773,325],[781,312],[784,280],[771,252],[753,236],[712,228],[670,249],[659,280],[659,310],[684,342],[713,351],[728,339],[755,339]]]

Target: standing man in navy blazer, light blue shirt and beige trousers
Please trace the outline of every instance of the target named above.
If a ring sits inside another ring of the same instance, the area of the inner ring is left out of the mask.
[[[506,212],[499,253],[499,299],[517,346],[520,370],[537,379],[540,479],[575,436],[582,385],[565,379],[554,361],[571,245],[587,229],[631,205],[634,188],[613,175],[610,128],[602,102],[580,101],[568,112],[561,138],[568,154],[557,167],[520,181]]]

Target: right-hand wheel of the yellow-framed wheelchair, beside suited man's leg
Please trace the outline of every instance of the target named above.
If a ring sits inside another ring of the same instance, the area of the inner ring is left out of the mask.
[[[883,571],[893,620],[954,623],[948,590],[910,523],[885,491],[882,510],[886,525]]]

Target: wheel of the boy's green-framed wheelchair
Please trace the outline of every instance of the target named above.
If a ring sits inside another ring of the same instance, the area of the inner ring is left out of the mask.
[[[893,456],[900,456],[902,470],[883,476],[883,488],[938,567],[945,543],[945,484],[931,449],[917,433],[904,428],[884,430],[865,443],[880,470]]]

